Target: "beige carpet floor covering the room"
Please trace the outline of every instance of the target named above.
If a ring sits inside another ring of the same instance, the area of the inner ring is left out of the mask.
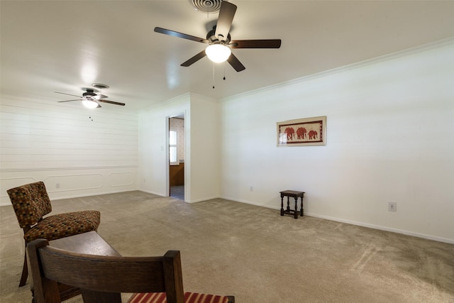
[[[448,243],[224,199],[187,204],[135,191],[52,205],[55,214],[101,211],[98,232],[122,255],[181,250],[187,291],[238,303],[454,302]],[[30,302],[30,282],[17,287],[22,231],[11,206],[0,211],[0,302]]]

